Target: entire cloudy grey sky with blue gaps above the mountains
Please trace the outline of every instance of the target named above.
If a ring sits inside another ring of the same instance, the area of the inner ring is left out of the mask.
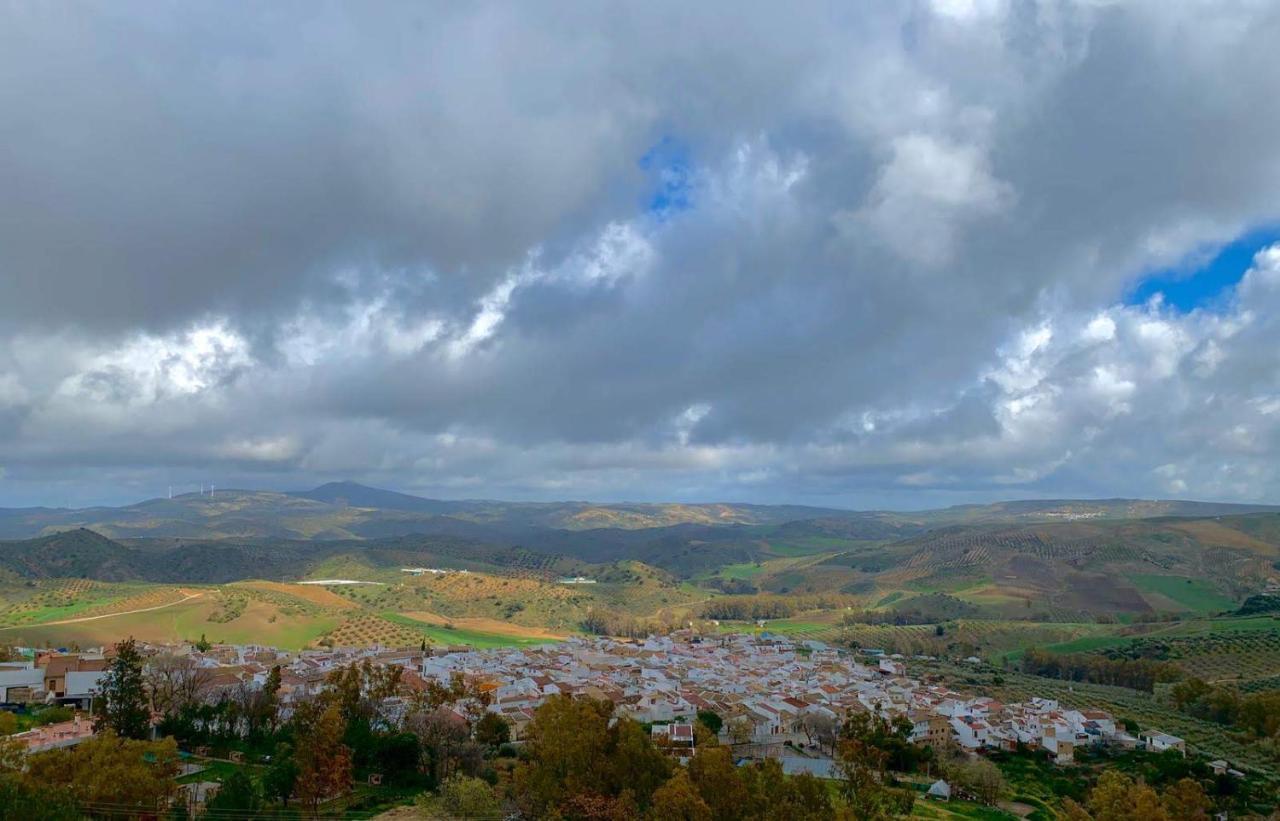
[[[0,506],[1280,502],[1280,5],[6,4]]]

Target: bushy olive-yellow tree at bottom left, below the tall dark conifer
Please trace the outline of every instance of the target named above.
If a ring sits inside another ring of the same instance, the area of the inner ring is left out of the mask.
[[[28,776],[79,803],[111,804],[122,815],[154,815],[178,792],[178,745],[172,738],[140,742],[110,729],[70,749],[28,757]]]

